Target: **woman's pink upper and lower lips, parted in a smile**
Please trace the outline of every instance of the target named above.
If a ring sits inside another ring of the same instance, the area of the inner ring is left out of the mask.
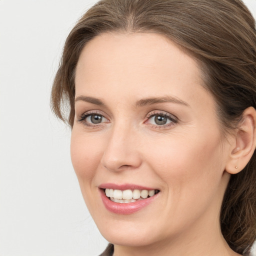
[[[113,188],[113,189],[120,189],[120,190],[125,190],[125,189],[146,189],[146,190],[152,190],[153,188],[147,188],[144,186],[138,186],[138,185],[132,185],[132,184],[123,184],[123,185],[117,185],[117,184],[101,184],[99,188]],[[147,206],[149,203],[151,203],[159,193],[145,198],[143,200],[137,200],[135,202],[129,202],[129,203],[118,203],[118,202],[113,202],[111,201],[106,195],[103,189],[99,189],[100,195],[102,202],[104,206],[106,207],[107,210],[116,213],[116,214],[132,214],[145,206]]]

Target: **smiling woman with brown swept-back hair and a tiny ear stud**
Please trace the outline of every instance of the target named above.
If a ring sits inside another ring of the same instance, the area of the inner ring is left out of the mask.
[[[256,32],[240,0],[101,0],[68,35],[52,108],[110,242],[240,255],[255,239]]]

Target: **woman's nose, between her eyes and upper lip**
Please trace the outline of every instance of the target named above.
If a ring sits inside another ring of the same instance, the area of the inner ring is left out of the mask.
[[[110,171],[135,169],[141,164],[139,139],[131,128],[114,127],[105,146],[101,164]]]

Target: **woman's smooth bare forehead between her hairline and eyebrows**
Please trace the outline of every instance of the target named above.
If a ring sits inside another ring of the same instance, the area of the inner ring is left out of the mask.
[[[203,88],[200,77],[197,61],[163,35],[109,32],[83,48],[76,67],[76,96],[97,90],[102,97],[106,91],[193,97]]]

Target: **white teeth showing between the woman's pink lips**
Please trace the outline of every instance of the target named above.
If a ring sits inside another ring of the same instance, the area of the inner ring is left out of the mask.
[[[146,189],[126,189],[126,190],[119,190],[119,189],[112,189],[112,188],[105,188],[103,189],[105,195],[113,202],[119,203],[129,203],[135,202],[138,200],[143,200],[145,198],[151,197],[159,192],[157,189],[146,190]]]

